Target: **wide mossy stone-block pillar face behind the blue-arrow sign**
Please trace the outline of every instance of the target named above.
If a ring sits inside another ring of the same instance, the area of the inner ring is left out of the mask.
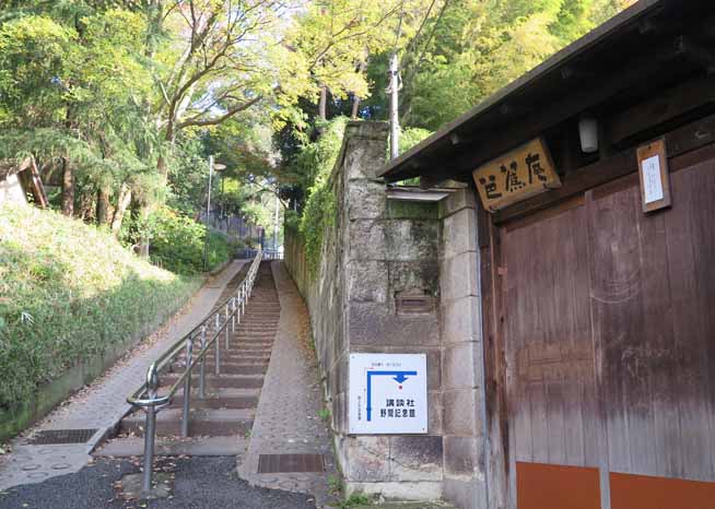
[[[442,356],[437,320],[439,236],[435,204],[387,200],[376,178],[387,154],[388,127],[351,122],[343,162],[342,273],[347,351],[427,354],[430,424],[426,436],[349,436],[348,358],[340,360],[344,394],[338,453],[349,489],[387,497],[442,495]],[[402,315],[396,297],[424,295],[432,311]]]

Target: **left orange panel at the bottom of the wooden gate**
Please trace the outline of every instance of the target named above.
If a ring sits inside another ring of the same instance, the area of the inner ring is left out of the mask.
[[[516,463],[517,509],[600,509],[598,469]]]

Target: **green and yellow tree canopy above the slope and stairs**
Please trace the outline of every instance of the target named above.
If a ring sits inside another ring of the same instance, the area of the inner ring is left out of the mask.
[[[0,0],[0,158],[133,241],[163,204],[199,216],[213,154],[222,210],[265,223],[262,193],[316,192],[328,120],[386,119],[391,55],[407,150],[630,3]]]

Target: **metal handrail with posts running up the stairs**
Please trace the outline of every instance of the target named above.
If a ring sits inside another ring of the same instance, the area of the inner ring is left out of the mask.
[[[262,251],[258,249],[256,257],[248,269],[244,281],[238,285],[235,295],[230,296],[223,303],[215,306],[207,317],[201,320],[191,331],[184,335],[160,355],[146,370],[146,380],[137,389],[127,402],[146,413],[146,424],[144,427],[144,472],[142,477],[142,493],[149,494],[152,487],[152,471],[154,463],[154,442],[156,430],[156,413],[172,403],[174,395],[179,387],[184,386],[184,405],[181,412],[181,436],[189,436],[190,418],[190,398],[191,398],[191,374],[194,368],[199,365],[199,398],[206,398],[206,354],[211,347],[215,347],[215,374],[221,372],[221,342],[219,338],[223,333],[225,336],[225,347],[228,348],[228,324],[231,323],[232,332],[236,331],[236,319],[241,323],[241,317],[246,312],[246,300],[250,298],[254,282],[258,274],[258,268],[262,259]],[[222,313],[223,310],[223,313]],[[221,315],[224,315],[221,323]],[[207,341],[207,328],[213,321],[214,334]],[[194,355],[194,342],[199,338],[201,350]],[[215,345],[215,346],[214,346]],[[177,380],[172,384],[168,391],[159,395],[159,374],[165,368],[172,367],[172,363],[177,356],[186,352],[186,367]]]

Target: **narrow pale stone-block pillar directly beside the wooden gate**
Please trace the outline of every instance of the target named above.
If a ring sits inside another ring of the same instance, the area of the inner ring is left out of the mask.
[[[444,496],[487,507],[483,362],[476,197],[462,188],[441,206]]]

